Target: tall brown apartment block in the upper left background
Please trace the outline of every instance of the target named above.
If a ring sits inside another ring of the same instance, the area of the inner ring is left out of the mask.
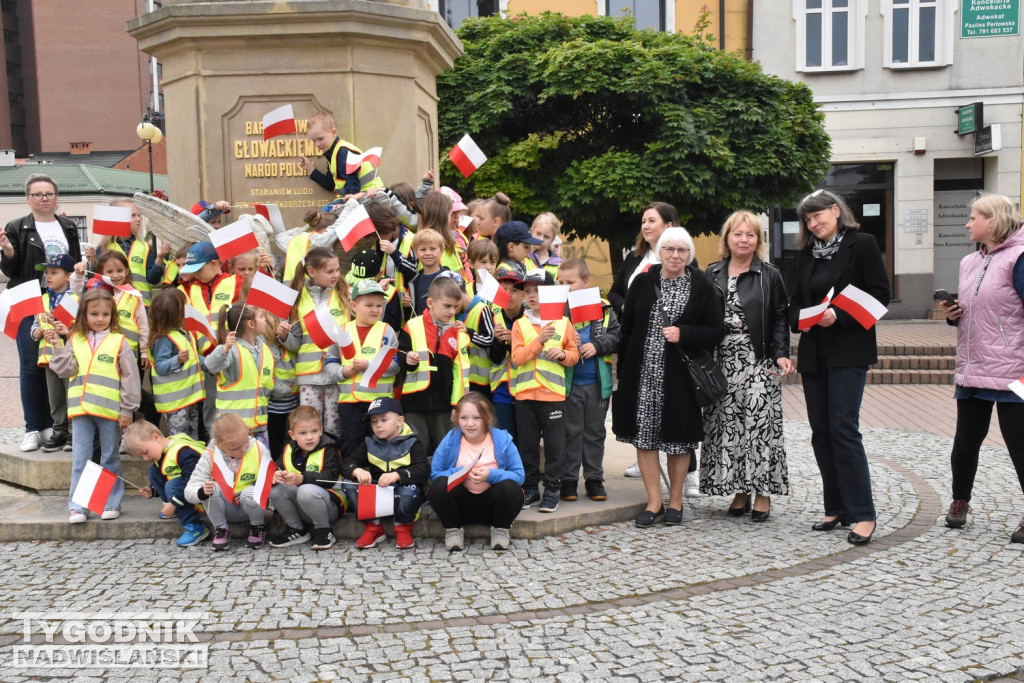
[[[145,11],[146,0],[0,0],[0,148],[137,148],[153,78],[125,23]]]

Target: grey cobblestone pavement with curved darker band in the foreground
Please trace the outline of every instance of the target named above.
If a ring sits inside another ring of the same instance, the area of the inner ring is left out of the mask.
[[[404,552],[343,543],[217,555],[167,541],[9,544],[0,666],[20,637],[9,618],[18,610],[188,609],[210,614],[200,628],[210,670],[168,681],[970,681],[1024,671],[1024,546],[1008,543],[1024,510],[1006,452],[983,449],[974,519],[951,530],[941,524],[949,439],[865,430],[880,525],[871,545],[852,548],[839,529],[810,530],[820,514],[810,433],[785,427],[793,494],[773,501],[766,524],[699,498],[679,527],[591,527],[505,553],[476,542],[449,555],[430,541]]]

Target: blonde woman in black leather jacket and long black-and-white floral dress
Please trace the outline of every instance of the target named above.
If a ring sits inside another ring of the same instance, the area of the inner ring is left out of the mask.
[[[725,298],[727,334],[716,357],[729,390],[705,411],[700,492],[734,494],[728,513],[767,521],[770,496],[790,493],[782,442],[782,375],[790,360],[788,298],[782,275],[764,261],[767,245],[761,221],[737,211],[722,226],[722,260],[708,276]]]

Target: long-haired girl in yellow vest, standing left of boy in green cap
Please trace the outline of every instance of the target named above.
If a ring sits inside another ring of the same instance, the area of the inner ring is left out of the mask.
[[[292,289],[299,293],[287,324],[288,332],[278,339],[295,354],[295,385],[299,403],[315,408],[329,434],[340,434],[338,383],[327,373],[326,360],[333,347],[321,347],[306,327],[305,316],[326,305],[340,328],[348,323],[348,285],[341,278],[338,257],[326,247],[310,249],[305,264],[296,270]],[[327,325],[326,323],[324,325]],[[284,329],[284,328],[283,328]],[[272,453],[272,452],[271,452]],[[276,458],[281,454],[273,453]]]

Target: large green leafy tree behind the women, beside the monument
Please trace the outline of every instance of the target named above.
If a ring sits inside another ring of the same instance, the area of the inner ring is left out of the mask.
[[[442,150],[470,133],[487,155],[472,197],[504,191],[516,216],[554,211],[578,236],[626,246],[651,201],[696,233],[739,209],[793,204],[828,170],[823,116],[806,86],[766,75],[703,35],[628,18],[546,12],[467,20],[437,79]],[[612,250],[613,252],[615,250]]]

